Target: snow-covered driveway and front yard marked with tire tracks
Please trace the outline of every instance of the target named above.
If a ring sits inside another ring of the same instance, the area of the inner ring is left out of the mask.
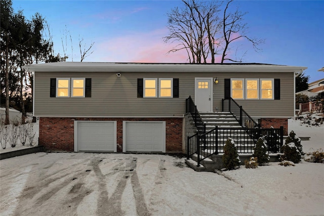
[[[304,152],[324,125],[289,120]],[[0,161],[0,215],[324,215],[324,164],[195,172],[151,154],[35,153]]]

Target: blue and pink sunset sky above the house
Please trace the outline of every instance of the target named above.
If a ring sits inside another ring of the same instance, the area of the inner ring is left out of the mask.
[[[67,61],[80,61],[78,38],[86,47],[95,42],[87,62],[188,62],[185,52],[167,55],[177,44],[163,41],[167,13],[175,7],[182,2],[13,0],[15,12],[23,10],[27,19],[36,12],[45,17],[55,53],[63,55],[63,41]],[[236,1],[236,7],[248,12],[248,35],[265,39],[258,53],[248,42],[236,42],[239,52],[247,51],[244,62],[305,66],[310,82],[324,78],[317,71],[324,67],[324,1]]]

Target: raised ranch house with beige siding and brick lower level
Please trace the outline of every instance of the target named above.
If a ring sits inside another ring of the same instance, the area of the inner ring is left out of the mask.
[[[306,67],[256,64],[58,62],[34,73],[39,145],[96,152],[183,152],[186,99],[217,112],[231,96],[262,127],[295,114],[295,76]]]

